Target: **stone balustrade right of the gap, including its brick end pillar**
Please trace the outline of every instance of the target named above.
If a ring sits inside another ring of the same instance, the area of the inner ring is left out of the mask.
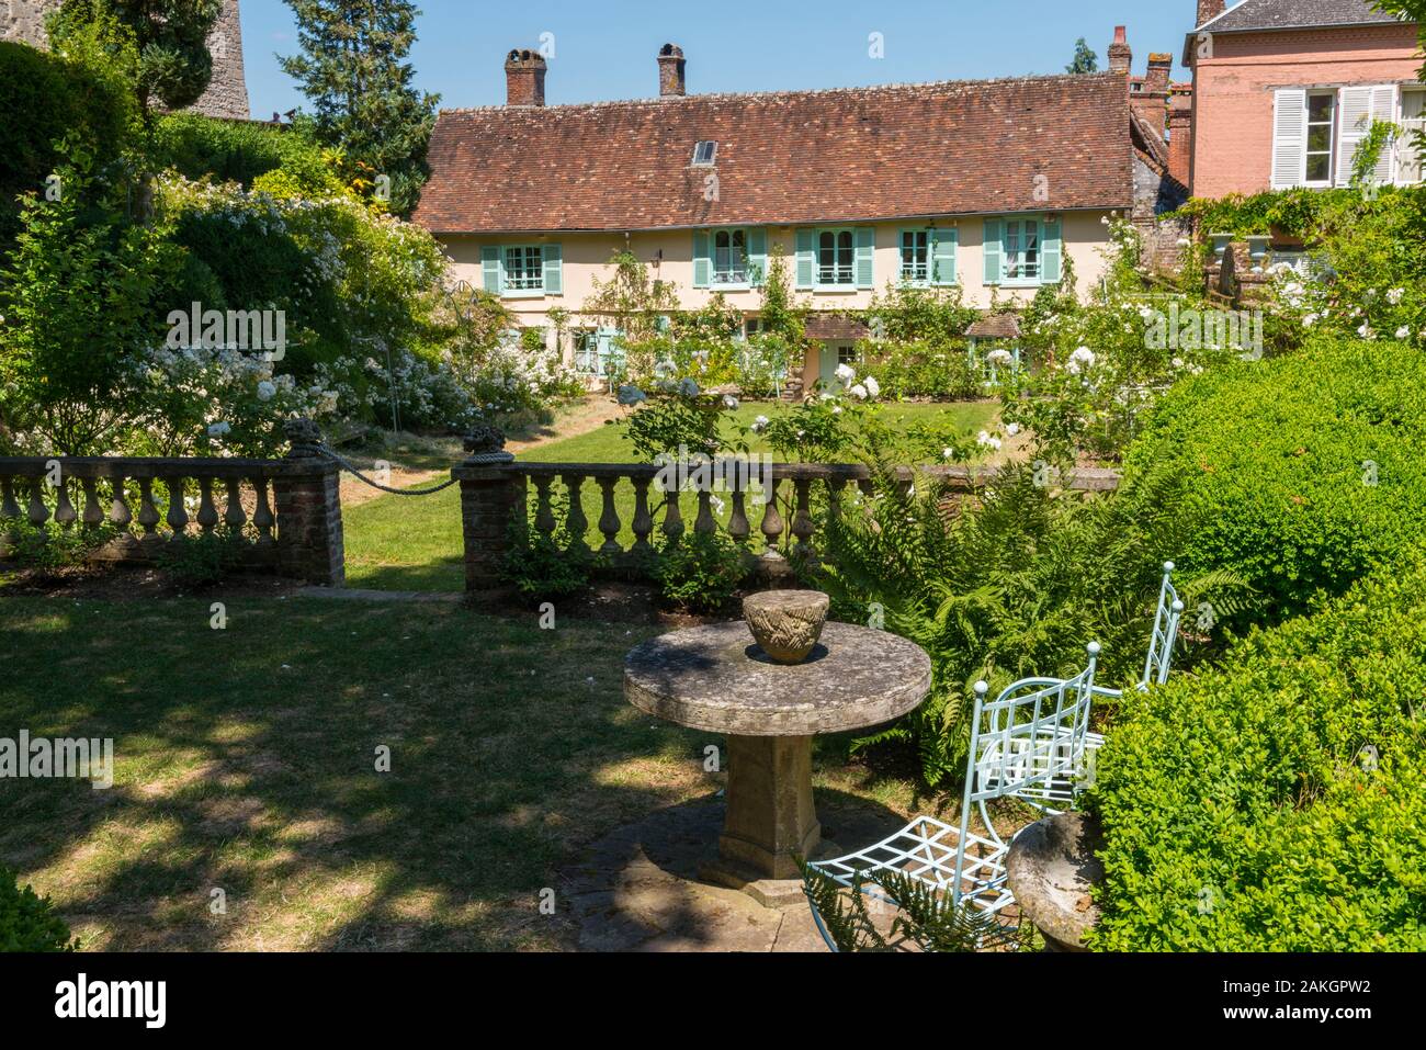
[[[667,476],[666,468],[655,464],[485,459],[468,461],[452,471],[461,482],[468,591],[499,586],[512,522],[532,516],[538,532],[555,534],[560,524],[553,508],[556,481],[569,496],[565,521],[569,549],[602,555],[609,569],[630,576],[647,571],[656,534],[674,539],[692,528],[693,534],[726,532],[744,549],[750,572],[776,578],[789,572],[789,558],[814,549],[821,514],[841,514],[848,498],[858,498],[848,494],[848,486],[864,495],[873,492],[871,471],[850,464],[744,462],[750,469],[712,469],[703,476],[693,471],[683,498],[667,499],[656,484],[660,474]],[[723,461],[739,462],[743,461]],[[903,468],[900,474],[910,485],[917,472]],[[992,479],[995,469],[927,467],[918,474],[968,492]],[[1112,491],[1119,476],[1114,471],[1081,469],[1058,484]],[[630,502],[629,488],[632,514],[620,514],[620,502]],[[603,542],[590,542],[589,535],[596,531]]]

